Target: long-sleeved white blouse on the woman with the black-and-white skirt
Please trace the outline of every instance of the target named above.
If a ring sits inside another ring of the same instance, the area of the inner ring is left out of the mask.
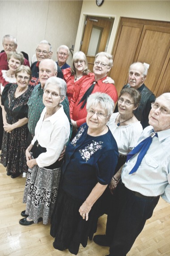
[[[62,105],[54,115],[43,120],[45,113],[46,107],[38,120],[35,136],[31,141],[31,144],[34,145],[34,142],[38,140],[39,145],[47,149],[47,152],[36,158],[39,167],[50,166],[57,161],[70,135],[70,124]]]

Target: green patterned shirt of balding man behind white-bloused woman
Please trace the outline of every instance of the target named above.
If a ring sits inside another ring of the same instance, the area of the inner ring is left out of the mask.
[[[41,84],[38,84],[34,87],[34,90],[32,91],[30,98],[28,100],[28,128],[32,136],[35,135],[35,126],[40,118],[40,115],[44,109],[43,104],[43,89],[41,87]],[[69,111],[69,103],[67,96],[64,98],[64,101],[61,103],[64,108],[64,112],[68,117],[69,123],[70,123],[70,137],[72,135],[72,123],[70,119],[70,111]]]

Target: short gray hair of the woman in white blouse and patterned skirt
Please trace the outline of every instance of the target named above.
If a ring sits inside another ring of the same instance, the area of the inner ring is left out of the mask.
[[[45,83],[44,90],[46,89],[48,84],[56,85],[59,88],[59,93],[62,95],[62,96],[60,96],[61,99],[63,99],[63,97],[66,96],[67,84],[63,79],[61,79],[59,77],[48,78]]]

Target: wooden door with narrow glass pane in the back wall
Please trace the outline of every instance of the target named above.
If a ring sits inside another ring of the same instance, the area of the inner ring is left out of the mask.
[[[111,21],[104,18],[87,17],[86,19],[81,51],[85,53],[92,72],[95,55],[100,51],[105,51],[110,26]]]

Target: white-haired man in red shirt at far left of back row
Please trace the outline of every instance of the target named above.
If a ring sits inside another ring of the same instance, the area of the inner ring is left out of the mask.
[[[0,53],[0,70],[9,70],[7,54],[10,51],[16,51],[17,49],[17,39],[10,34],[4,35],[2,38],[2,45],[4,47],[4,52]],[[28,60],[24,58],[24,65],[30,67]]]

